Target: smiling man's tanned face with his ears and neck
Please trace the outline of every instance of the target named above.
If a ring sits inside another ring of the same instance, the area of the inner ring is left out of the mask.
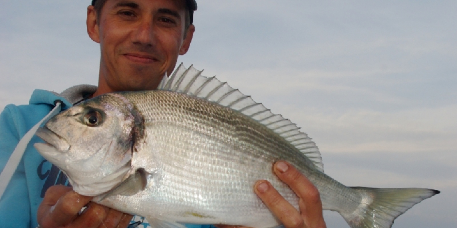
[[[173,71],[194,31],[191,26],[184,38],[184,4],[184,0],[107,0],[92,33],[94,15],[89,6],[89,35],[101,46],[103,91],[97,93],[154,89],[165,73]]]

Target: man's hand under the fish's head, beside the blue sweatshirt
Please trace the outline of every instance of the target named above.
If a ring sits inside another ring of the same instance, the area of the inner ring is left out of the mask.
[[[90,202],[92,197],[82,196],[63,185],[46,191],[38,207],[40,228],[125,228],[132,215]],[[84,212],[79,213],[83,207]]]

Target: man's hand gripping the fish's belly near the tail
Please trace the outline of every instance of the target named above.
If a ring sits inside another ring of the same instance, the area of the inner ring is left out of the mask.
[[[276,215],[286,228],[326,228],[322,215],[322,203],[319,191],[311,181],[285,161],[278,161],[273,166],[276,176],[297,194],[300,211],[297,211],[276,191],[270,182],[260,180],[255,183],[255,193],[262,199],[271,212]],[[239,226],[215,225],[218,228]]]

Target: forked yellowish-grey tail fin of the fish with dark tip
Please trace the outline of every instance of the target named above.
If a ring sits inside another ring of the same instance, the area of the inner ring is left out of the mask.
[[[340,213],[351,228],[390,228],[395,218],[416,203],[440,193],[424,188],[351,188],[363,196],[355,212]]]

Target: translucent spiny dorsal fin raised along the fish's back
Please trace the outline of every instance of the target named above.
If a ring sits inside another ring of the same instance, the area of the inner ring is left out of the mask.
[[[181,63],[168,80],[164,77],[158,89],[203,98],[245,114],[281,135],[305,154],[319,171],[324,172],[318,147],[306,133],[300,132],[296,124],[284,119],[282,115],[273,114],[263,104],[256,103],[250,96],[232,88],[227,82],[221,82],[215,77],[207,78],[201,74],[202,71],[193,66],[186,68]]]

